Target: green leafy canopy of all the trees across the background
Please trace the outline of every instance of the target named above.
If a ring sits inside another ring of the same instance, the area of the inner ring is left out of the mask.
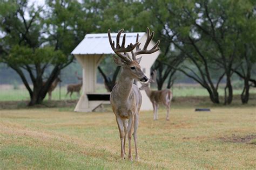
[[[85,34],[122,28],[144,32],[150,27],[155,31],[154,40],[161,41],[160,61],[169,63],[175,72],[182,69],[203,87],[208,86],[207,90],[218,91],[215,83],[224,72],[232,76],[231,68],[241,72],[256,61],[255,4],[252,0],[47,0],[36,7],[27,1],[1,1],[0,61],[21,77],[21,70],[28,69],[30,76],[41,80],[38,77],[45,75],[45,68],[55,70],[48,75],[56,77],[53,75],[72,62],[70,52]],[[114,69],[105,66],[112,64],[108,60],[100,67],[111,74]],[[177,61],[183,60],[179,65]],[[166,72],[165,79],[172,73]]]

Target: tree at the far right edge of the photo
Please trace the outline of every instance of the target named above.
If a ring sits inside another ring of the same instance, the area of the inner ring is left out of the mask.
[[[254,3],[254,4],[253,4]],[[240,14],[239,22],[235,23],[239,27],[239,45],[237,65],[232,70],[244,80],[244,88],[241,93],[241,102],[248,103],[249,91],[251,86],[256,86],[256,80],[252,78],[253,64],[255,63],[255,44],[256,44],[256,22],[255,22],[255,2],[247,1],[243,9],[238,9]],[[250,84],[252,82],[252,84]]]

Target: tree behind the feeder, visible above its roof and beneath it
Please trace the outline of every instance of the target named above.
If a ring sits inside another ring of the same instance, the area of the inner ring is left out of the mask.
[[[142,32],[145,31],[150,23],[150,12],[144,11],[144,6],[141,2],[96,1],[93,2],[93,11],[96,11],[97,16],[101,18],[97,23],[97,32],[100,33],[106,32],[107,29],[111,29],[113,32],[118,32],[120,29],[125,29],[127,32]],[[104,67],[106,62],[107,68]],[[99,73],[103,76],[107,91],[112,90],[120,72],[119,66],[111,65],[109,67],[110,64],[109,59],[106,59],[98,67]]]

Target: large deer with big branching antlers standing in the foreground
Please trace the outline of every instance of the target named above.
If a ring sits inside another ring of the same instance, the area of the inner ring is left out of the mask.
[[[135,159],[139,160],[138,147],[137,147],[137,129],[139,125],[139,110],[142,105],[142,94],[139,91],[138,86],[133,84],[134,79],[140,82],[147,82],[148,79],[145,74],[142,72],[142,69],[139,66],[139,62],[142,59],[136,58],[136,55],[139,54],[151,54],[159,50],[158,45],[160,41],[157,41],[157,44],[152,47],[152,49],[147,50],[151,39],[154,36],[154,32],[150,34],[149,28],[147,28],[147,39],[143,49],[139,48],[140,43],[138,42],[139,35],[137,34],[136,43],[132,43],[125,47],[125,34],[123,37],[122,45],[119,45],[119,39],[121,33],[124,29],[120,30],[117,34],[117,44],[114,47],[114,41],[111,39],[110,30],[108,30],[109,42],[114,51],[118,55],[113,55],[113,60],[116,65],[122,67],[122,72],[120,73],[119,81],[113,87],[110,102],[114,115],[116,116],[116,121],[119,129],[120,140],[121,140],[121,157],[125,159],[125,140],[128,134],[129,140],[129,159],[132,161],[131,154],[131,136],[133,129],[133,139],[135,145],[136,156]],[[136,51],[133,52],[133,49],[136,48]],[[132,58],[127,53],[131,52]],[[128,121],[127,121],[128,119]]]

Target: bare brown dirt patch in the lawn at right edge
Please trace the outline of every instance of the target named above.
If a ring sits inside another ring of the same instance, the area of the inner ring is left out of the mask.
[[[247,134],[246,136],[236,136],[235,134],[232,134],[232,137],[220,138],[220,140],[225,142],[247,143],[256,145],[256,142],[252,141],[253,139],[256,139],[256,134]]]

